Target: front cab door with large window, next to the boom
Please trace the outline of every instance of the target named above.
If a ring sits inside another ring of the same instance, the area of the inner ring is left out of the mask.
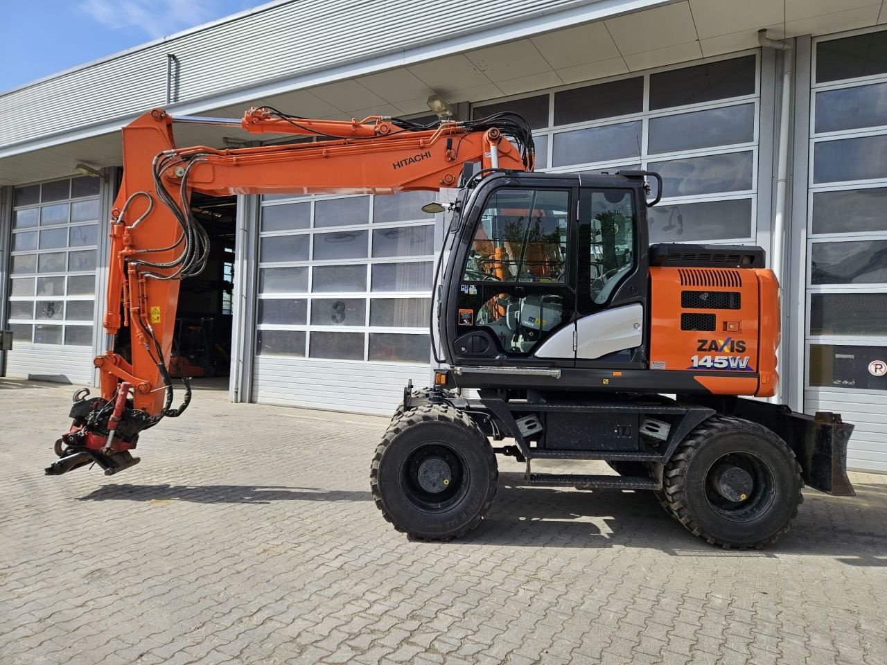
[[[452,275],[457,363],[573,365],[578,192],[537,182],[545,180],[486,192],[467,230],[461,270]],[[565,331],[568,343],[546,344]]]

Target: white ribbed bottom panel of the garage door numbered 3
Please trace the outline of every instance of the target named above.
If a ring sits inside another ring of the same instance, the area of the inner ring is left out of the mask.
[[[408,379],[416,387],[428,386],[431,369],[256,356],[252,402],[389,416],[404,399]]]

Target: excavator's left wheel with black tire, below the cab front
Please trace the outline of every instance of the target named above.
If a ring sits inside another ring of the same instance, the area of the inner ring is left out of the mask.
[[[370,469],[382,516],[423,540],[475,528],[496,496],[498,466],[475,422],[450,406],[425,404],[395,419]]]

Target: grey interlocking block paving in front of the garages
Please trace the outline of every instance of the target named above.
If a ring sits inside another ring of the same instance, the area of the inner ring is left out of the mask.
[[[142,464],[44,477],[71,392],[0,380],[3,665],[887,662],[885,476],[733,553],[503,462],[481,527],[412,543],[368,489],[385,419],[201,392]]]

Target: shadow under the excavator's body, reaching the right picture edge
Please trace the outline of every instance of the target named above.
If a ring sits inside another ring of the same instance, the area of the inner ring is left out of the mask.
[[[857,484],[857,497],[805,492],[787,534],[762,550],[723,550],[692,536],[648,491],[517,487],[502,473],[481,525],[459,542],[528,547],[641,547],[672,556],[758,557],[807,554],[852,566],[887,567],[887,486]]]

